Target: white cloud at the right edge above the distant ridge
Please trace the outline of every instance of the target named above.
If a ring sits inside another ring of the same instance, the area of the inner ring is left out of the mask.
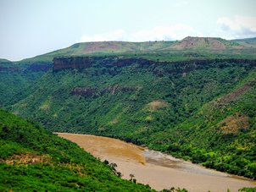
[[[247,38],[256,36],[256,17],[221,17],[217,20],[224,36],[229,38]]]

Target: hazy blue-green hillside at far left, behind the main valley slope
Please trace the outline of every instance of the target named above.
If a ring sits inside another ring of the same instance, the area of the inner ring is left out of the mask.
[[[11,63],[0,61],[0,107],[10,106],[28,96],[30,87],[52,63]]]

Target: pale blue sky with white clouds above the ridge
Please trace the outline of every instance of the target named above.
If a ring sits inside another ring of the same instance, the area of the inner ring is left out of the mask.
[[[0,0],[0,58],[83,41],[256,36],[256,0]]]

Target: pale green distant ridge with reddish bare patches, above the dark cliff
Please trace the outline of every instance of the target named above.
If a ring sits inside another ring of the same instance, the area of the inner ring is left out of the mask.
[[[228,41],[218,37],[187,36],[181,41],[95,41],[80,42],[74,45],[48,52],[34,58],[24,59],[22,62],[48,61],[62,56],[109,55],[109,54],[144,54],[144,53],[170,53],[181,51],[218,52],[224,50],[239,51],[256,48],[256,41]],[[237,54],[237,53],[236,53]]]

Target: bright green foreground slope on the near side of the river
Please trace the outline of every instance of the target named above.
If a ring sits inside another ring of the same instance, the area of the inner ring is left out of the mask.
[[[0,190],[149,191],[80,147],[0,110]]]

